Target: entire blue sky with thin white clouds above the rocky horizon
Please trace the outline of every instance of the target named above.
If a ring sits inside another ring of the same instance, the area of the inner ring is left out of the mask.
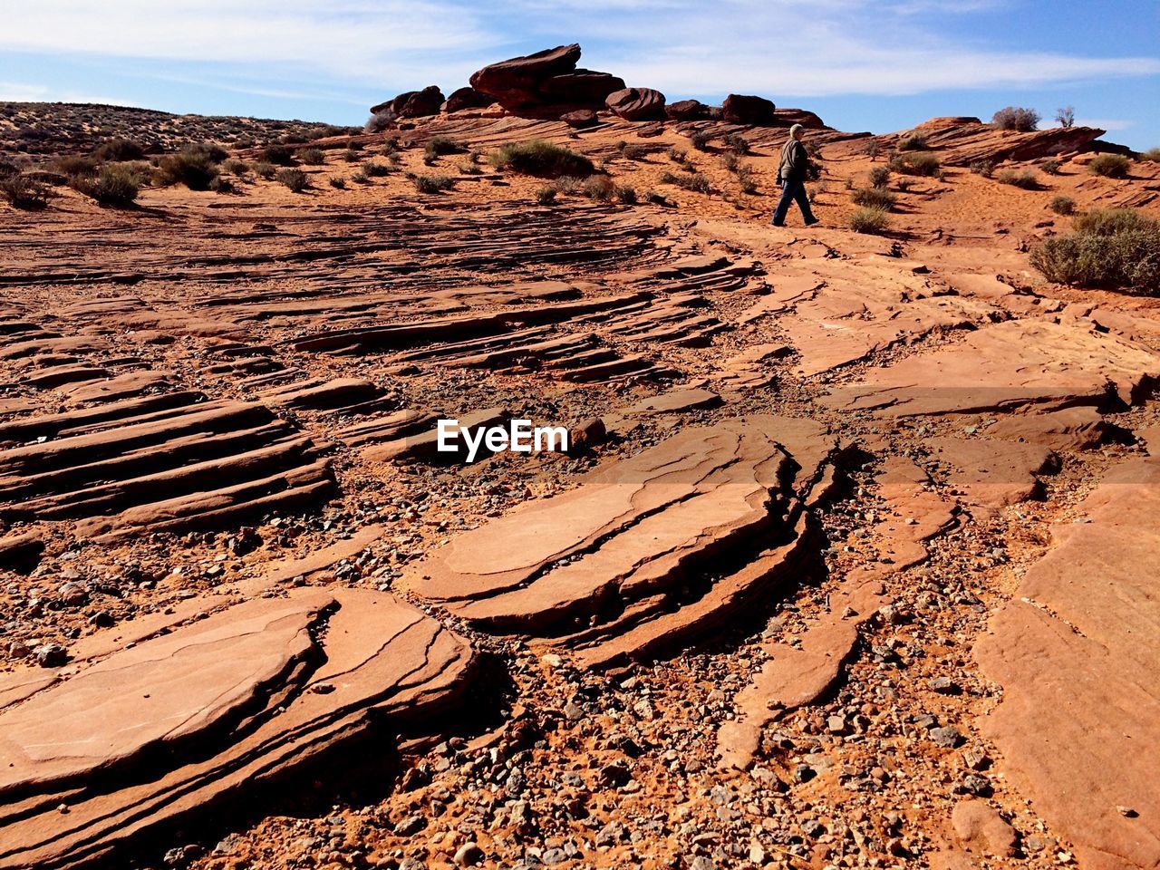
[[[1160,0],[5,0],[0,100],[360,124],[567,42],[670,100],[730,90],[883,132],[1065,104],[1160,145]],[[16,10],[19,9],[19,10]]]

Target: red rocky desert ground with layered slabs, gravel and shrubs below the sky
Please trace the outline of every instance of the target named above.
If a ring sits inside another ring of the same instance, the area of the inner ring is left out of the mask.
[[[1160,153],[580,63],[0,103],[0,868],[1160,867]]]

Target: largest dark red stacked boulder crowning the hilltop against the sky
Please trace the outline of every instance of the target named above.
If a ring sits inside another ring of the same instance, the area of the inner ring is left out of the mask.
[[[471,87],[528,117],[603,109],[609,94],[624,89],[624,79],[577,68],[579,60],[579,45],[560,45],[485,66],[471,77]]]

